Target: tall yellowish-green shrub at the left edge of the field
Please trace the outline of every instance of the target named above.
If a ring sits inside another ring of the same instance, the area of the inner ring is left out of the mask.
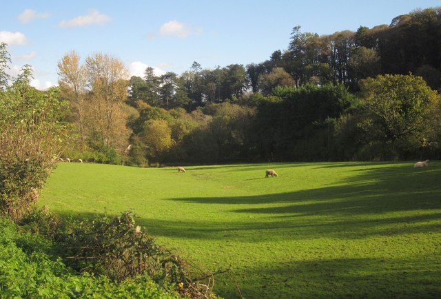
[[[0,212],[19,220],[38,198],[67,138],[58,90],[28,85],[30,70],[0,90]]]

